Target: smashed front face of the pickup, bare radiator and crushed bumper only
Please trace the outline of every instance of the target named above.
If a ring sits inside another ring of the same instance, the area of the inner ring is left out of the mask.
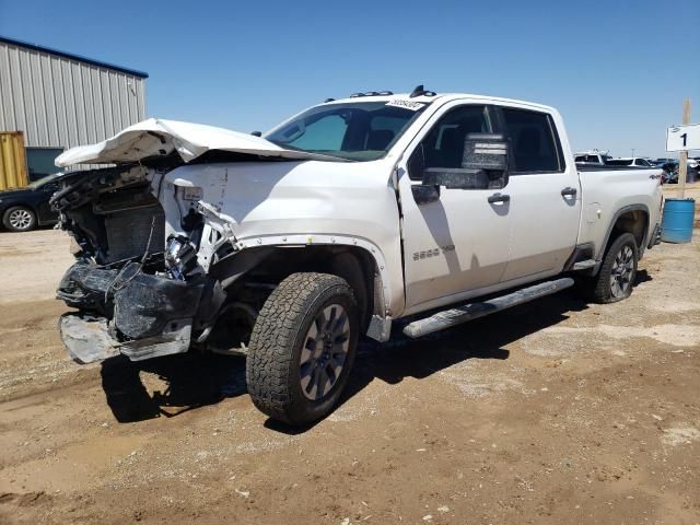
[[[51,198],[74,241],[77,261],[57,295],[78,308],[61,317],[60,330],[79,363],[185,352],[211,331],[224,303],[221,283],[198,261],[211,226],[196,203],[177,230],[166,224],[158,198],[165,173],[141,164],[74,172]]]

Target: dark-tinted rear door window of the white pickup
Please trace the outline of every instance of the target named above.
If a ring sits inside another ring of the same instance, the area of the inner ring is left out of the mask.
[[[563,172],[559,137],[548,114],[510,107],[501,112],[511,141],[512,174]]]

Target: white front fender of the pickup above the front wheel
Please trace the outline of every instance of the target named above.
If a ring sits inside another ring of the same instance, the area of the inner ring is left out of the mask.
[[[160,198],[165,236],[184,233],[179,231],[180,210],[185,213],[190,206],[184,191],[178,191],[175,201],[174,191],[167,188],[188,182],[201,188],[200,202],[210,207],[207,221],[221,232],[228,226],[240,249],[316,244],[365,249],[385,285],[386,308],[400,312],[399,215],[388,180],[390,171],[387,160],[184,165],[165,175]]]

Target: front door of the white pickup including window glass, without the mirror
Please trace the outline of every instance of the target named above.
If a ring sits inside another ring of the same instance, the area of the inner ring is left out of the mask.
[[[489,106],[446,104],[399,163],[407,314],[468,299],[501,281],[509,261],[510,211],[508,200],[498,200],[502,189],[440,187],[433,200],[420,197],[436,192],[421,187],[423,171],[462,167],[466,136],[492,132],[492,122]]]

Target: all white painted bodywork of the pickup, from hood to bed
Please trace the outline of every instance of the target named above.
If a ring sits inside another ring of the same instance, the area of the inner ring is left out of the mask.
[[[237,249],[316,244],[361,247],[375,260],[384,285],[384,311],[393,318],[557,275],[576,244],[592,242],[600,253],[610,221],[625,206],[649,208],[648,235],[658,220],[661,188],[656,179],[649,178],[650,171],[578,174],[563,121],[551,107],[477,95],[372,100],[425,107],[387,155],[371,162],[345,162],[284,150],[245,133],[158,119],[127,128],[107,141],[70,150],[58,161],[61,165],[138,161],[162,154],[161,150],[165,154],[176,151],[185,162],[210,150],[287,159],[185,164],[171,171],[162,185],[152,184],[162,187],[159,199],[166,217],[165,236],[182,233],[182,215],[194,208],[206,217],[207,233],[212,234],[198,254],[205,267],[222,242]],[[365,98],[348,98],[335,104],[363,102]],[[498,190],[443,187],[438,201],[418,205],[412,186],[421,183],[409,178],[408,159],[442,115],[468,104],[550,115],[567,162],[564,173],[514,175]],[[151,176],[155,182],[158,175]],[[561,196],[567,186],[579,190],[575,198]],[[489,203],[488,197],[497,191],[510,195],[511,201]],[[195,196],[200,200],[192,200]],[[582,208],[587,212],[582,214]],[[430,256],[420,257],[421,253]]]

